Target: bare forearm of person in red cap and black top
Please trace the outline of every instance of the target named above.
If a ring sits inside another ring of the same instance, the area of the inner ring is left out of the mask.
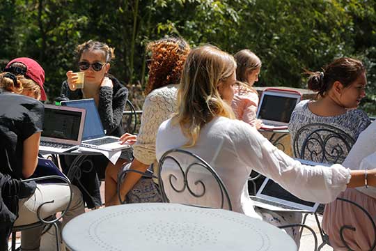
[[[22,175],[24,178],[29,178],[36,170],[40,134],[41,132],[36,132],[24,141],[24,154],[22,155]]]

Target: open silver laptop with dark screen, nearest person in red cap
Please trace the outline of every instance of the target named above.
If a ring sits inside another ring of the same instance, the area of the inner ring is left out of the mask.
[[[63,153],[78,149],[84,132],[84,109],[45,105],[39,151]]]

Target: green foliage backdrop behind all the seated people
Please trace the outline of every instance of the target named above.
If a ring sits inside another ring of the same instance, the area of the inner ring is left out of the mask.
[[[65,72],[77,70],[76,46],[89,39],[115,47],[111,73],[142,86],[146,44],[164,36],[253,50],[263,61],[261,86],[305,88],[304,70],[354,56],[368,68],[362,108],[376,114],[375,9],[369,0],[2,0],[0,63],[39,61],[53,99]]]

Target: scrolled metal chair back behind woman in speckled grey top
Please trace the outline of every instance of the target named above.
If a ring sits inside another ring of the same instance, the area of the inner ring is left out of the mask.
[[[342,163],[355,140],[334,126],[311,123],[297,131],[292,148],[295,158],[322,163]]]

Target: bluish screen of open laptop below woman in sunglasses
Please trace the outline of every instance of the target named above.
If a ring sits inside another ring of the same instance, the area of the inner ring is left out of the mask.
[[[70,100],[61,102],[61,105],[86,109],[84,134],[82,135],[82,140],[104,136],[102,121],[100,121],[97,106],[95,105],[95,101],[93,99]]]

